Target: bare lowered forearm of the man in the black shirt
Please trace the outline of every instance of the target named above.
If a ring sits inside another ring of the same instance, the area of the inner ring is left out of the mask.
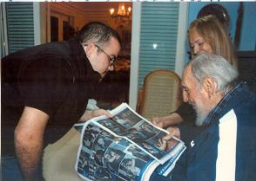
[[[15,130],[17,158],[25,181],[43,181],[41,157],[44,129],[49,116],[32,107],[24,112]]]

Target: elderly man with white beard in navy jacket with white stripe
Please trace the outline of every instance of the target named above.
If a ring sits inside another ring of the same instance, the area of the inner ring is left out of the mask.
[[[185,67],[184,100],[204,130],[192,140],[168,177],[151,180],[256,180],[256,95],[219,55],[202,53]],[[168,139],[168,138],[165,138]]]

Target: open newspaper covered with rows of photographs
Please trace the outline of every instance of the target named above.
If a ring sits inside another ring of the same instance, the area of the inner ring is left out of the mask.
[[[113,117],[100,116],[76,124],[81,132],[75,169],[85,180],[149,180],[153,171],[167,176],[185,144],[165,141],[164,129],[123,103],[111,110]]]

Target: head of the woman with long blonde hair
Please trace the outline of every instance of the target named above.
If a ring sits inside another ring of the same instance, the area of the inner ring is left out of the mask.
[[[192,57],[205,51],[223,56],[234,68],[238,67],[237,57],[227,29],[216,16],[208,15],[193,21],[187,31]],[[204,49],[208,47],[210,49]]]

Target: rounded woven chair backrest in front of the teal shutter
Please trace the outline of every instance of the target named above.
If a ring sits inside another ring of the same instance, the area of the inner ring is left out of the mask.
[[[180,103],[179,75],[167,69],[147,74],[138,95],[137,111],[145,118],[166,116]]]

